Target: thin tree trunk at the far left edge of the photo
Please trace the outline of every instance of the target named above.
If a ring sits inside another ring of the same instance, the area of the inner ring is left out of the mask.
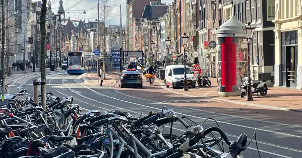
[[[1,32],[2,32],[2,41],[1,41],[1,69],[2,69],[2,101],[4,101],[5,94],[5,61],[4,61],[4,45],[5,45],[5,0],[1,0]]]

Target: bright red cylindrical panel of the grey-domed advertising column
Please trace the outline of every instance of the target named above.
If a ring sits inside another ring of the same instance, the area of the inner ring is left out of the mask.
[[[232,92],[236,85],[236,44],[233,37],[224,37],[221,44],[221,85],[224,92]]]

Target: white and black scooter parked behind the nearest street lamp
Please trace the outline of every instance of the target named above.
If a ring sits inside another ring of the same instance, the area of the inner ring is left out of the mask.
[[[239,86],[238,88],[241,89],[241,93],[240,93],[240,97],[244,98],[244,96],[247,93],[247,85],[248,85],[248,81],[246,80],[245,82],[243,82],[243,84],[241,86]],[[266,82],[254,82],[252,83],[252,94],[257,94],[260,93],[262,96],[265,96],[267,94],[267,90],[268,87],[266,85]]]

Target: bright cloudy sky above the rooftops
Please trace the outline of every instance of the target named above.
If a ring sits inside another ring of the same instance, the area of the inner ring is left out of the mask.
[[[97,19],[97,0],[63,0],[63,8],[65,11],[66,19],[70,17],[71,20],[84,20],[85,22],[95,21]],[[171,4],[173,0],[162,0],[162,3]],[[59,8],[59,0],[52,0],[51,5],[53,12],[57,12]],[[75,5],[77,4],[77,5]],[[73,6],[75,5],[75,6]],[[126,0],[110,0],[110,5],[114,5],[110,15],[107,16],[106,23],[112,25],[120,24],[120,6],[122,10],[122,25],[126,23]],[[92,8],[92,9],[91,9]],[[89,10],[90,9],[90,10]],[[80,13],[86,11],[86,14]],[[67,13],[69,12],[69,13]],[[100,17],[100,21],[102,18]]]

